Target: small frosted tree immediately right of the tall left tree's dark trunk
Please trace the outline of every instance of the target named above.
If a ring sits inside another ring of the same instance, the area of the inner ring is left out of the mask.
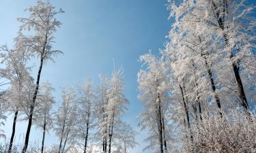
[[[53,128],[53,90],[49,82],[43,83],[38,92],[38,105],[35,107],[35,124],[43,131],[41,153],[44,152],[45,134]]]

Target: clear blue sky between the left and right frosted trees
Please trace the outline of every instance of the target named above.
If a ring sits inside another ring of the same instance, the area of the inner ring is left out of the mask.
[[[53,47],[64,52],[55,63],[48,63],[42,70],[42,82],[48,80],[55,87],[55,97],[60,99],[61,86],[73,86],[84,78],[98,80],[100,73],[110,75],[115,67],[124,67],[126,97],[130,101],[124,120],[137,127],[137,115],[141,102],[137,99],[137,72],[141,64],[137,61],[148,50],[153,53],[164,48],[168,39],[171,21],[168,20],[166,0],[51,0],[57,9],[66,13],[57,16],[63,23],[56,33]],[[17,17],[26,16],[27,7],[35,0],[1,0],[0,44],[12,46],[19,23]],[[38,63],[35,62],[35,65]],[[38,67],[35,68],[37,70]],[[35,72],[34,72],[35,73]],[[35,75],[33,75],[35,78]],[[10,138],[12,114],[5,127]],[[16,142],[23,142],[27,122],[17,124]],[[141,142],[144,134],[137,136]],[[41,141],[42,132],[33,129],[32,141]],[[56,142],[55,136],[46,135],[46,144]],[[132,153],[141,152],[144,144]]]

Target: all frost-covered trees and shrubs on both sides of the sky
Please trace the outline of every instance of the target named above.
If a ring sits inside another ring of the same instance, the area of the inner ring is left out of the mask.
[[[138,56],[134,96],[142,105],[137,126],[147,133],[143,152],[256,152],[255,5],[246,0],[166,3],[172,24],[165,48]],[[25,12],[17,21],[14,46],[0,47],[0,153],[135,153],[141,131],[123,120],[130,104],[125,67],[99,75],[99,83],[87,78],[75,88],[63,85],[59,103],[54,82],[40,78],[45,65],[65,56],[54,49],[65,8],[38,0]],[[12,135],[5,135],[1,128],[10,114]],[[20,120],[26,121],[26,132],[16,143]],[[31,135],[33,127],[41,134]],[[31,137],[40,137],[40,143]],[[58,141],[48,146],[50,137]]]

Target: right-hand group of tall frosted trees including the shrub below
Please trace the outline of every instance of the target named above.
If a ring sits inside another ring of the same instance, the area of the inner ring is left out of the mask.
[[[256,152],[255,6],[169,1],[170,41],[139,58],[145,152]]]

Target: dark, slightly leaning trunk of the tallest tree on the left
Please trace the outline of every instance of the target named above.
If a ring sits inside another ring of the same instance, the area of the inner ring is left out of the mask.
[[[43,50],[45,50],[45,46],[44,46]],[[24,143],[24,146],[23,146],[23,153],[27,152],[27,146],[29,145],[29,134],[30,134],[30,131],[31,131],[31,126],[32,126],[33,109],[34,109],[34,106],[35,106],[35,99],[38,95],[40,75],[41,75],[43,63],[44,63],[44,57],[41,55],[40,67],[39,67],[39,70],[38,70],[38,78],[36,80],[35,92],[33,93],[33,101],[32,101],[32,104],[30,106],[30,111],[29,111],[29,124],[27,125],[27,133],[26,133],[26,137],[25,137],[25,143]]]

